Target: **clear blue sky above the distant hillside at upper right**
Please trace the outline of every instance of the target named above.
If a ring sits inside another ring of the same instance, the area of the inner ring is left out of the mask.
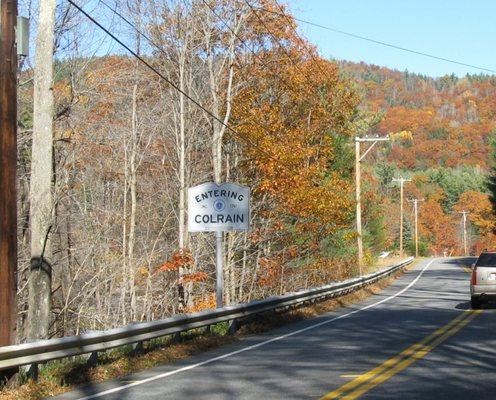
[[[496,70],[496,0],[286,0],[297,18]],[[481,71],[300,23],[326,57],[441,76]]]

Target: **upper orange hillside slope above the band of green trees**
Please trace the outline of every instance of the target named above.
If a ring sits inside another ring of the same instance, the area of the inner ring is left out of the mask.
[[[413,169],[487,165],[487,139],[496,129],[494,76],[433,79],[365,63],[342,65],[364,89],[366,105],[386,111],[379,133],[413,133],[415,146],[394,144],[389,161]]]

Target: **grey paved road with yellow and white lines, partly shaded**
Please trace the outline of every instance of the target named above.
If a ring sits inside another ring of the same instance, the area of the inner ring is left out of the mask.
[[[496,309],[460,260],[428,260],[324,316],[60,399],[496,399]]]

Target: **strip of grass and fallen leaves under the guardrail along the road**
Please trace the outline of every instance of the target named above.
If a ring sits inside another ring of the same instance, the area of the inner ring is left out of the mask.
[[[420,261],[422,260],[415,260],[407,269],[413,268]],[[394,262],[389,260],[388,265]],[[380,268],[383,267],[380,266]],[[372,270],[368,272],[372,272]],[[99,356],[99,363],[95,366],[88,365],[83,357],[49,362],[42,367],[38,382],[28,381],[15,389],[4,388],[0,390],[0,400],[38,400],[70,391],[84,383],[119,378],[133,372],[184,359],[235,342],[248,335],[266,332],[291,322],[312,318],[339,307],[359,302],[379,293],[402,274],[403,272],[400,271],[374,285],[336,299],[329,299],[289,311],[260,315],[256,320],[242,325],[235,335],[228,334],[227,323],[220,323],[213,326],[208,334],[205,334],[202,329],[186,332],[181,335],[180,343],[172,343],[172,338],[153,340],[139,355],[134,355],[130,347],[102,353]]]

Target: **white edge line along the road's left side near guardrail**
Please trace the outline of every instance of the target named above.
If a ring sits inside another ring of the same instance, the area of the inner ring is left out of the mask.
[[[310,325],[310,326],[307,326],[306,328],[302,328],[302,329],[298,329],[296,331],[293,331],[293,332],[290,332],[290,333],[286,333],[284,335],[281,335],[281,336],[277,336],[275,338],[272,338],[272,339],[269,339],[269,340],[265,340],[263,342],[260,342],[260,343],[257,343],[257,344],[253,344],[251,346],[247,346],[247,347],[244,347],[242,349],[239,349],[239,350],[236,350],[236,351],[232,351],[230,353],[227,353],[227,354],[223,354],[221,356],[217,356],[217,357],[214,357],[214,358],[210,358],[208,360],[205,360],[205,361],[202,361],[202,362],[199,362],[199,363],[196,363],[196,364],[191,364],[191,365],[188,365],[186,367],[182,367],[182,368],[178,368],[178,369],[175,369],[173,371],[169,371],[169,372],[164,372],[163,374],[159,374],[159,375],[155,375],[155,376],[151,376],[150,378],[146,378],[146,379],[142,379],[140,381],[135,381],[133,383],[129,383],[127,385],[123,385],[123,386],[119,386],[119,387],[116,387],[116,388],[113,388],[113,389],[109,389],[109,390],[105,390],[103,392],[100,392],[100,393],[95,393],[95,394],[92,394],[90,396],[86,396],[86,397],[81,397],[81,398],[78,398],[77,400],[91,400],[91,399],[96,399],[98,397],[102,397],[102,396],[106,396],[107,394],[112,394],[112,393],[115,393],[115,392],[119,392],[121,390],[124,390],[124,389],[128,389],[128,388],[131,388],[131,387],[134,387],[134,386],[138,386],[138,385],[142,385],[144,383],[148,383],[148,382],[152,382],[152,381],[155,381],[157,379],[162,379],[162,378],[166,378],[168,376],[171,376],[171,375],[176,375],[176,374],[179,374],[181,372],[185,372],[185,371],[189,371],[191,369],[194,369],[194,368],[198,368],[198,367],[201,367],[203,365],[207,365],[207,364],[211,364],[213,362],[216,362],[216,361],[219,361],[219,360],[222,360],[224,358],[228,358],[228,357],[232,357],[232,356],[235,356],[236,354],[240,354],[240,353],[244,353],[245,351],[250,351],[250,350],[253,350],[253,349],[256,349],[258,347],[261,347],[261,346],[265,346],[266,344],[269,344],[269,343],[272,343],[272,342],[277,342],[279,340],[282,340],[282,339],[286,339],[290,336],[294,336],[294,335],[298,335],[299,333],[302,333],[302,332],[306,332],[306,331],[309,331],[309,330],[312,330],[312,329],[315,329],[315,328],[318,328],[322,325],[327,325],[331,322],[334,322],[338,319],[342,319],[342,318],[346,318],[346,317],[349,317],[350,315],[353,315],[353,314],[356,314],[360,311],[365,311],[365,310],[368,310],[369,308],[372,308],[372,307],[376,307],[378,306],[379,304],[382,304],[382,303],[385,303],[386,301],[389,301],[389,300],[392,300],[394,299],[395,297],[398,297],[400,296],[401,294],[405,293],[408,289],[410,289],[413,285],[415,285],[417,283],[417,281],[420,279],[420,277],[422,276],[422,274],[425,272],[425,270],[427,268],[429,268],[431,266],[431,264],[435,261],[436,259],[433,259],[431,260],[421,271],[420,273],[417,275],[417,277],[411,281],[408,286],[406,286],[405,288],[403,288],[402,290],[400,290],[399,292],[395,293],[394,295],[392,296],[389,296],[389,297],[386,297],[385,299],[382,299],[380,301],[377,301],[375,303],[372,303],[372,304],[369,304],[368,306],[365,306],[365,307],[362,307],[362,308],[359,308],[357,310],[353,310],[353,311],[350,311],[349,313],[346,313],[346,314],[342,314],[342,315],[339,315],[337,317],[334,317],[334,318],[331,318],[331,319],[328,319],[326,321],[322,321],[322,322],[319,322],[317,324],[314,324],[314,325]]]

